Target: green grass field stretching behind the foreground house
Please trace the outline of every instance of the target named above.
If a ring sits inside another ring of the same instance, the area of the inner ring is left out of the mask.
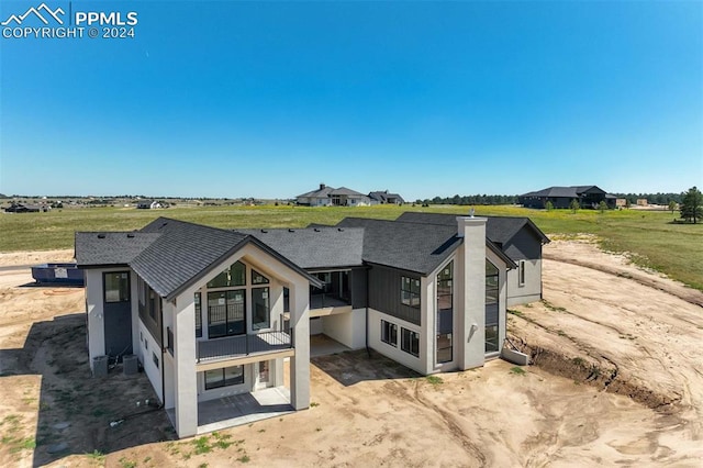
[[[403,211],[462,213],[469,207],[301,208],[205,207],[136,210],[85,208],[49,213],[0,214],[0,252],[70,248],[76,231],[131,231],[157,216],[168,216],[217,227],[303,227],[334,224],[345,216],[393,220]],[[600,213],[580,210],[550,212],[516,207],[477,207],[476,214],[529,216],[547,235],[595,234],[603,248],[635,254],[635,260],[703,290],[703,224],[673,224],[677,214],[622,210]]]

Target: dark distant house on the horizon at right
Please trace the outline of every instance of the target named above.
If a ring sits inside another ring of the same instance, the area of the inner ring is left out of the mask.
[[[535,192],[523,193],[517,202],[525,208],[544,209],[548,201],[554,208],[570,208],[571,201],[577,200],[581,208],[596,209],[601,201],[607,208],[615,208],[616,197],[606,193],[596,186],[549,187]]]

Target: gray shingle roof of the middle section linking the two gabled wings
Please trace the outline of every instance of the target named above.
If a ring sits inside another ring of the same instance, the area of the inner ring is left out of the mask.
[[[236,230],[258,238],[302,268],[362,265],[364,230],[310,227],[297,230]]]

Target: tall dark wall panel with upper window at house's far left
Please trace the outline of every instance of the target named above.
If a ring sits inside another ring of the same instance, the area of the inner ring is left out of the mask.
[[[130,272],[103,274],[105,355],[118,360],[132,354],[132,301]]]

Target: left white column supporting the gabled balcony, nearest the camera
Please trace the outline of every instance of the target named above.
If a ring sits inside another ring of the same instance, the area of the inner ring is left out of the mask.
[[[167,310],[167,308],[164,308]],[[177,298],[174,307],[174,383],[176,432],[189,437],[198,432],[198,375],[196,374],[196,305],[193,292]],[[165,334],[166,335],[166,334]],[[164,346],[167,344],[164,343]]]

